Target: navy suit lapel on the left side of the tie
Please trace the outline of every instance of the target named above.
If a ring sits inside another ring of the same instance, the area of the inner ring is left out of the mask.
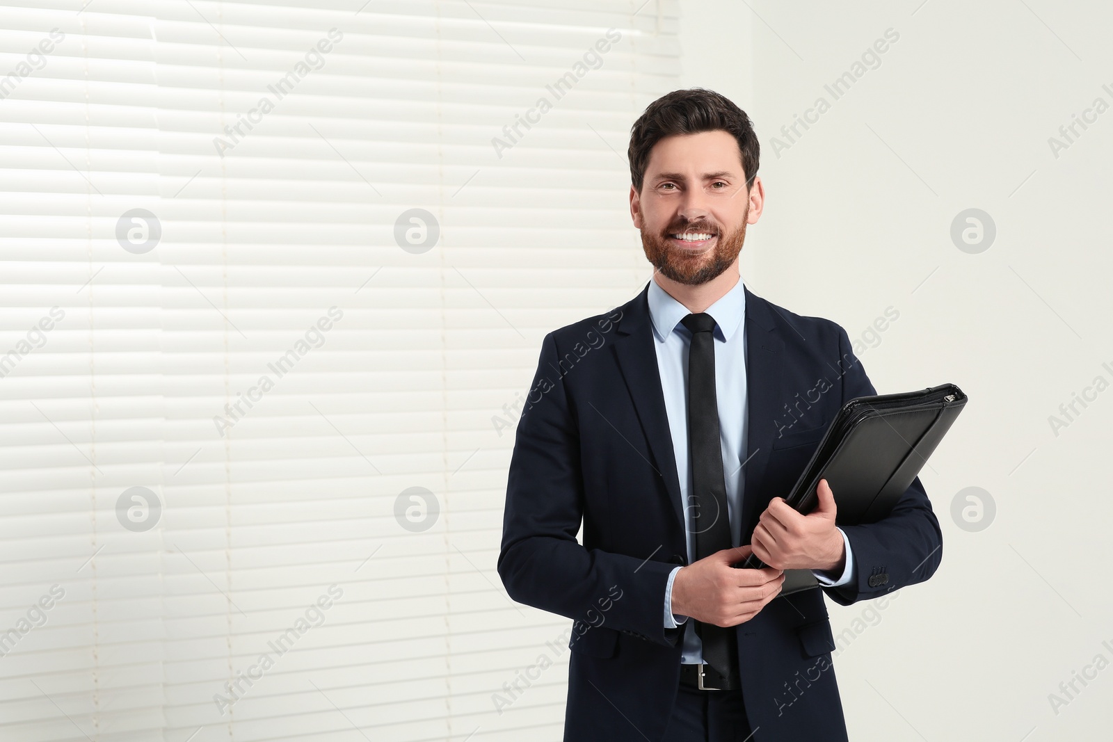
[[[642,432],[649,442],[651,466],[664,479],[664,487],[677,516],[677,525],[682,533],[684,518],[680,504],[680,477],[677,475],[672,433],[664,409],[657,349],[653,347],[653,328],[649,317],[649,284],[646,284],[641,294],[623,309],[626,313],[615,330],[614,353],[630,390],[638,419],[641,422]],[[636,443],[637,441],[633,441],[631,445]],[[634,445],[634,448],[638,446]]]

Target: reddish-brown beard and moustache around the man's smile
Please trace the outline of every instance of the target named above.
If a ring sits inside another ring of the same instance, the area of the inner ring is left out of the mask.
[[[742,222],[729,234],[723,234],[722,227],[706,219],[674,221],[659,235],[650,234],[643,228],[641,247],[646,251],[646,258],[666,278],[688,286],[706,284],[733,265],[738,254],[742,251],[742,243],[746,241],[746,217],[749,216],[749,211],[747,207]],[[684,253],[670,244],[672,239],[670,235],[684,231],[713,235],[715,245],[705,253],[695,255]]]

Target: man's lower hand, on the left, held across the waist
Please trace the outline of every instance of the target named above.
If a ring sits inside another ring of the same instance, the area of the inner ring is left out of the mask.
[[[716,626],[737,626],[758,614],[780,593],[780,570],[736,570],[730,566],[751,548],[723,548],[680,567],[672,581],[672,612]]]

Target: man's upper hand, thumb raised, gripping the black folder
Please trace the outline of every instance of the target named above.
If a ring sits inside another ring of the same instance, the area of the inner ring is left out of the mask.
[[[796,512],[784,497],[769,502],[750,538],[758,558],[778,570],[843,571],[846,548],[835,527],[835,495],[827,479],[819,481],[816,495],[819,505],[807,515]]]

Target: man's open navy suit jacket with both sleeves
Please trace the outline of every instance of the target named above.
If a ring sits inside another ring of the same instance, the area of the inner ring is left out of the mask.
[[[843,403],[876,390],[838,324],[745,290],[748,544]],[[681,629],[664,629],[664,586],[687,548],[647,295],[648,284],[545,336],[510,464],[499,574],[513,600],[573,620],[568,741],[661,740],[678,692]],[[884,520],[840,527],[855,574],[823,591],[841,605],[939,565],[943,536],[918,477]],[[735,630],[756,742],[847,739],[820,588],[777,597]]]

